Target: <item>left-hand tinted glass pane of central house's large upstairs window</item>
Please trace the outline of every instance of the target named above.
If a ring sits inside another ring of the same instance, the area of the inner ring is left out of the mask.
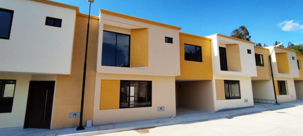
[[[116,33],[103,31],[102,65],[115,66]]]

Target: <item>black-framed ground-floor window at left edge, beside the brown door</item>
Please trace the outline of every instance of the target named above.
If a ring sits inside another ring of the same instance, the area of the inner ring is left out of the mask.
[[[12,112],[16,80],[0,80],[0,113]]]

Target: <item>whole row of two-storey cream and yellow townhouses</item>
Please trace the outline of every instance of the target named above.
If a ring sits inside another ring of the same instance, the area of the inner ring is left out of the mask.
[[[0,3],[0,128],[77,126],[88,15],[48,0]],[[303,98],[303,55],[180,29],[103,9],[91,16],[83,125]]]

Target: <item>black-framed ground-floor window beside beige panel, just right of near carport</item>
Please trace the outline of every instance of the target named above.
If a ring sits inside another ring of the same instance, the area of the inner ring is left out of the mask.
[[[225,99],[241,99],[240,82],[238,80],[224,80]]]

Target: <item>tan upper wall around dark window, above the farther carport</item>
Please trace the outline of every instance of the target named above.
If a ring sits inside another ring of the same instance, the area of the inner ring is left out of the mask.
[[[268,49],[266,48],[259,48],[255,46],[255,53],[263,55],[263,64],[262,66],[257,67],[257,77],[251,77],[251,80],[271,80],[271,72],[270,72],[270,64],[268,58]],[[255,62],[254,62],[255,63]]]

